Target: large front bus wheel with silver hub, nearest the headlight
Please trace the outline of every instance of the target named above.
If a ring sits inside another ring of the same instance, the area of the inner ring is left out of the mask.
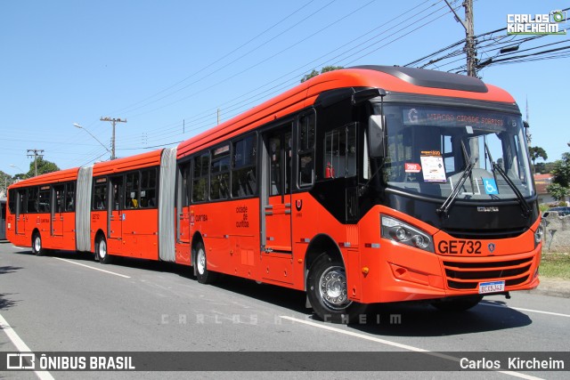
[[[325,322],[354,323],[366,312],[365,304],[348,299],[344,264],[326,254],[309,270],[307,297],[316,316]]]

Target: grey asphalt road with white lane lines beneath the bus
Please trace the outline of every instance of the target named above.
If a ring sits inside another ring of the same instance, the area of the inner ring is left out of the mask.
[[[457,360],[481,360],[481,352],[487,352],[487,358],[493,352],[567,352],[570,299],[532,292],[511,295],[509,300],[486,297],[460,314],[437,311],[425,303],[375,306],[362,324],[341,326],[313,319],[305,309],[305,295],[297,291],[231,277],[202,285],[182,266],[130,259],[102,265],[91,255],[71,252],[37,257],[29,249],[0,243],[0,322],[4,320],[5,333],[0,332],[0,351],[22,351],[23,343],[32,352],[256,352],[257,360],[266,362],[272,358],[263,352],[308,352],[303,354],[308,362],[336,370],[339,357],[327,352],[403,352],[402,360],[417,360],[405,355],[421,352],[419,356],[428,361],[438,355],[433,352],[452,352],[449,358],[436,359],[458,369]],[[213,360],[222,359],[219,353],[214,355],[218,356]],[[334,378],[393,377],[388,372],[362,371],[370,363],[362,362],[361,367],[353,363],[366,358],[346,355],[348,371],[335,372]],[[241,359],[251,360],[237,360]],[[284,357],[281,365],[288,360]],[[82,372],[80,376],[305,379],[331,374],[304,370],[314,369],[310,365],[295,368],[299,372],[247,373],[221,366],[216,369],[225,372]],[[51,371],[39,376],[77,378],[77,374]],[[443,371],[405,375],[457,376]],[[567,369],[525,368],[461,373],[467,378],[567,375]],[[13,371],[0,377],[37,378],[34,372]]]

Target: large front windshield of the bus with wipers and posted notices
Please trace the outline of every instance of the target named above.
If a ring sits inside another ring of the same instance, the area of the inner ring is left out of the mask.
[[[380,108],[376,111],[380,113]],[[458,200],[513,199],[516,190],[519,197],[533,196],[520,115],[387,104],[384,115],[388,187],[447,198],[459,185]],[[461,180],[462,176],[466,178]]]

